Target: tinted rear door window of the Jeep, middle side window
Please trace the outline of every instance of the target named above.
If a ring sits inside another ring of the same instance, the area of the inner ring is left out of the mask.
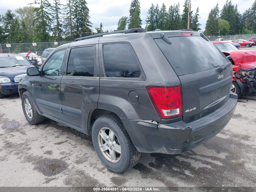
[[[93,77],[95,65],[95,47],[78,47],[70,51],[67,76]]]

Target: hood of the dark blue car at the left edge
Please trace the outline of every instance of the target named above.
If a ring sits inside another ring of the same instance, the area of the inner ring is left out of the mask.
[[[26,74],[27,69],[33,65],[28,66],[19,66],[19,67],[7,67],[0,68],[0,76],[5,76],[11,79],[14,82],[14,77],[21,74]]]

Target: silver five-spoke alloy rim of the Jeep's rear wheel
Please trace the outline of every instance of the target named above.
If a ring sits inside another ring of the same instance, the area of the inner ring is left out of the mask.
[[[115,133],[102,127],[98,132],[98,145],[103,156],[111,163],[117,163],[121,157],[121,146]]]

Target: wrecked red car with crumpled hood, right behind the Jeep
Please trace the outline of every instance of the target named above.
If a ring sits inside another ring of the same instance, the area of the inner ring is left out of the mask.
[[[237,78],[235,73],[242,69],[249,70],[256,68],[256,51],[255,50],[239,50],[231,45],[228,41],[212,41],[212,43],[221,50],[221,52],[230,60],[233,64],[233,83],[231,91],[241,96],[243,93],[248,93],[251,89],[248,89],[247,82],[242,78]]]

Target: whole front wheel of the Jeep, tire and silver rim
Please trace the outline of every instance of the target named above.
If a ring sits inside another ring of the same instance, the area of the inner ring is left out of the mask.
[[[40,115],[30,97],[29,93],[25,91],[21,97],[23,113],[28,123],[35,125],[45,120],[45,116]]]

